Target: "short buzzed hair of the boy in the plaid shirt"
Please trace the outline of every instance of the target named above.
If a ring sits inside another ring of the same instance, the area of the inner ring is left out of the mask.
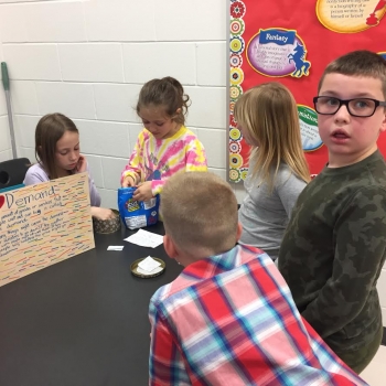
[[[161,192],[161,215],[165,233],[192,257],[225,253],[237,242],[235,194],[213,173],[180,172],[171,176]]]

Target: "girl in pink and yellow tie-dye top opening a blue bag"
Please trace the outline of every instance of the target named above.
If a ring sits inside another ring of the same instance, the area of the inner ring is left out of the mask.
[[[185,126],[190,98],[172,77],[152,79],[139,94],[137,114],[144,129],[121,174],[121,185],[137,186],[133,199],[148,201],[165,181],[183,171],[207,171],[205,149]]]

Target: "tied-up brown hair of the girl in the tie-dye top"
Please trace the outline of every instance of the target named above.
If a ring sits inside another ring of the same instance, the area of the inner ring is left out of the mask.
[[[165,109],[168,117],[180,125],[185,124],[185,116],[190,98],[184,94],[181,83],[171,76],[162,79],[152,79],[147,82],[141,92],[137,103],[137,114],[142,107],[162,106]],[[180,111],[178,112],[178,109]]]

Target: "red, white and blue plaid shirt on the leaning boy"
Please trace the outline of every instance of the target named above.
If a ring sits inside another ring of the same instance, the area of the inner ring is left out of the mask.
[[[150,301],[149,385],[366,385],[302,320],[267,254],[236,246]]]

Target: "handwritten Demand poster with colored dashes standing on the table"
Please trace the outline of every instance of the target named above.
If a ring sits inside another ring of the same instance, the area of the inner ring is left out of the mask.
[[[87,173],[0,193],[0,286],[94,247]]]

